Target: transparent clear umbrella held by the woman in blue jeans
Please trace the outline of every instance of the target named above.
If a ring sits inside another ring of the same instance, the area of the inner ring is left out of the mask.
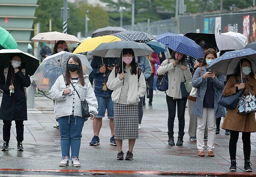
[[[61,51],[54,55],[47,56],[32,76],[39,90],[49,91],[51,89],[58,76],[61,76],[61,74],[65,72],[67,59],[73,55],[81,59],[83,73],[87,75],[90,74],[93,69],[86,56]]]

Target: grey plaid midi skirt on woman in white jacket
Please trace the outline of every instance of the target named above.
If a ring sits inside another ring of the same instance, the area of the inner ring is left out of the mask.
[[[114,103],[115,138],[118,140],[139,138],[138,104]]]

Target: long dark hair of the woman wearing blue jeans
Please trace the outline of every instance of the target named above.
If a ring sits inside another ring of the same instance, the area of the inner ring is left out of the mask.
[[[71,80],[71,76],[70,76],[70,71],[67,68],[68,62],[70,59],[73,59],[75,62],[78,62],[79,67],[77,70],[77,73],[79,75],[79,81],[81,83],[82,86],[84,86],[85,82],[84,82],[84,74],[83,74],[83,69],[82,69],[82,64],[81,64],[81,60],[79,59],[78,56],[76,55],[72,55],[67,59],[67,64],[66,64],[66,70],[65,70],[65,81],[66,81],[66,85],[70,85],[70,80]]]

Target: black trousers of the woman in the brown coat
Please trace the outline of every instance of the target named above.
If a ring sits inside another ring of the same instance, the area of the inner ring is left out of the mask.
[[[239,132],[230,130],[230,142],[229,142],[229,152],[230,160],[236,160],[236,144],[239,138]],[[242,132],[243,150],[244,150],[244,160],[250,160],[250,132]]]

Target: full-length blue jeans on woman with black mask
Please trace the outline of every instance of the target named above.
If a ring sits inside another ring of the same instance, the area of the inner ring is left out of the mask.
[[[65,116],[57,119],[60,136],[61,136],[61,155],[70,158],[79,157],[79,150],[81,145],[82,129],[84,126],[84,118],[79,116]]]

